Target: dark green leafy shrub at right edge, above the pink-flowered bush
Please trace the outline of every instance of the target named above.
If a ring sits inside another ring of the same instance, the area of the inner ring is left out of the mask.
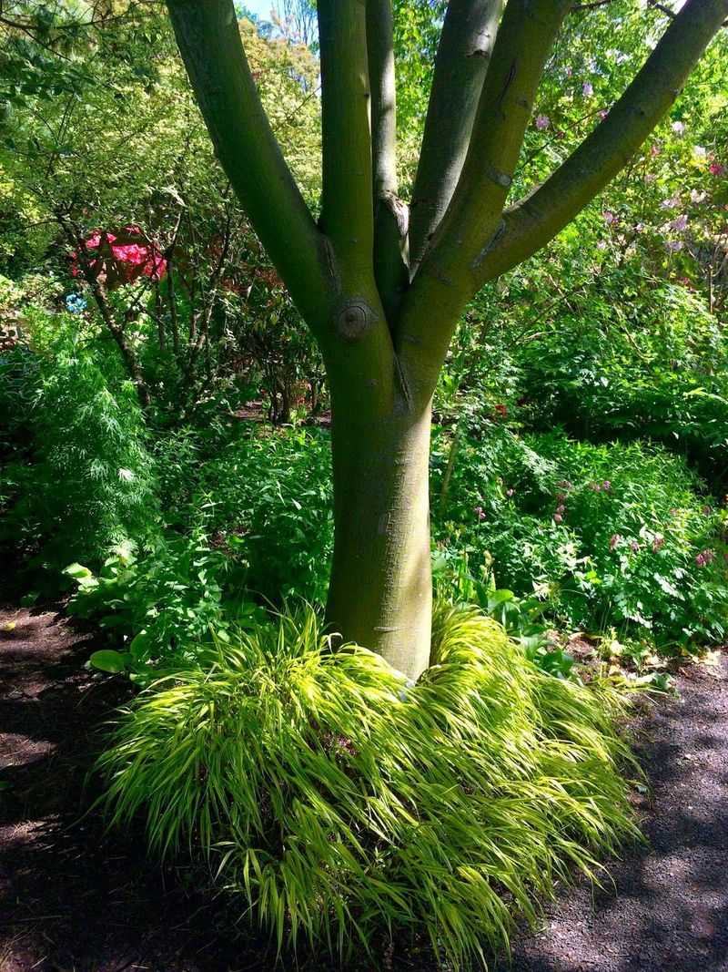
[[[518,353],[523,417],[581,438],[651,438],[728,475],[728,341],[705,301],[612,269]]]

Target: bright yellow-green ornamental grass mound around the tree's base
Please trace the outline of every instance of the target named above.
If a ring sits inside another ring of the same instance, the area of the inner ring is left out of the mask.
[[[191,850],[279,949],[426,932],[455,967],[508,946],[559,880],[638,830],[606,691],[539,672],[495,622],[438,608],[408,687],[331,650],[314,611],[157,682],[101,758],[115,823]]]

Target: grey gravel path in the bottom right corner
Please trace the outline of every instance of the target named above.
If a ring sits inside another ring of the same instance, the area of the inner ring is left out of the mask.
[[[728,657],[678,679],[642,731],[648,845],[559,897],[513,972],[728,972]]]

